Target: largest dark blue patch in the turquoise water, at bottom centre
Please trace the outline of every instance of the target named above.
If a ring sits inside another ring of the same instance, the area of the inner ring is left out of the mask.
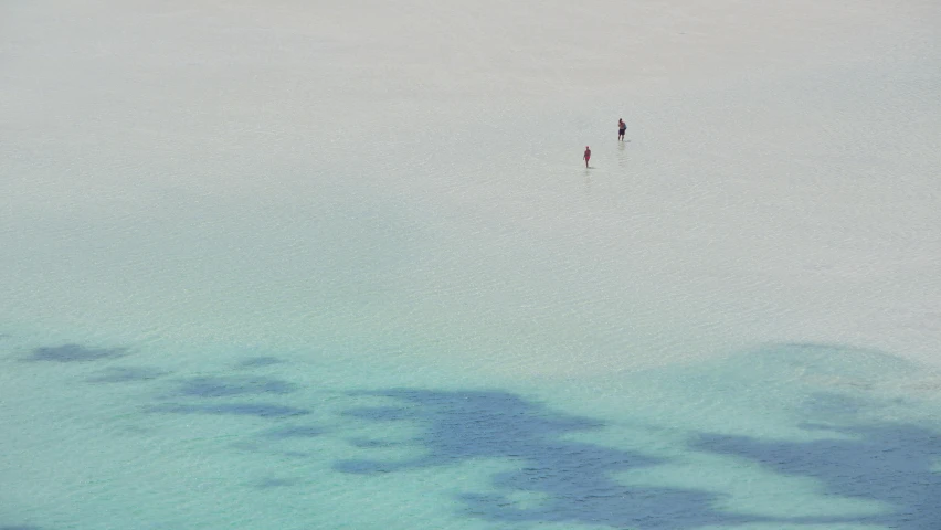
[[[411,443],[421,456],[342,459],[334,463],[337,471],[368,476],[454,466],[462,460],[512,460],[515,470],[491,476],[491,491],[455,495],[474,517],[498,523],[568,522],[670,530],[746,521],[743,516],[717,511],[713,506],[718,497],[712,491],[620,483],[616,474],[668,460],[568,439],[574,433],[603,428],[604,424],[594,418],[556,412],[501,391],[391,389],[352,395],[397,401],[398,405],[352,409],[345,415],[366,422],[414,424],[419,433]],[[387,446],[381,439],[362,442],[357,439],[351,445],[364,454]],[[519,496],[541,500],[524,508],[512,501]]]

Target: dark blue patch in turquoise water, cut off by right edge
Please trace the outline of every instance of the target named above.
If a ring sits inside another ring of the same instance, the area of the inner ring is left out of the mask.
[[[846,398],[839,399],[839,403],[846,402]],[[922,425],[854,417],[856,411],[866,407],[863,401],[852,404],[842,424],[799,425],[823,436],[818,439],[701,433],[691,442],[691,448],[751,460],[781,476],[814,480],[822,491],[835,498],[886,507],[877,513],[794,516],[779,522],[874,524],[903,530],[941,528],[941,473],[937,468],[937,462],[941,462],[941,433]]]

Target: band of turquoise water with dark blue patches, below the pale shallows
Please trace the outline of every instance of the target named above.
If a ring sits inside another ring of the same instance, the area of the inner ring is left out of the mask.
[[[878,352],[770,344],[496,383],[406,356],[362,362],[342,344],[172,348],[4,339],[7,521],[927,529],[939,517],[937,404],[905,386],[916,367]]]

